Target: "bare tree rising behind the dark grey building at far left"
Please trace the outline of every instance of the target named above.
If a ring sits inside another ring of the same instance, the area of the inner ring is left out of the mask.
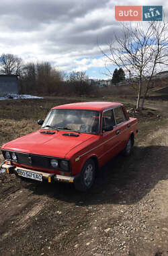
[[[0,57],[1,73],[5,75],[21,75],[23,61],[12,54],[3,54]]]

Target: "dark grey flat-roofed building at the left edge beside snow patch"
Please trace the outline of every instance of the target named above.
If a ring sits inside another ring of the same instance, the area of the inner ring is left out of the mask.
[[[18,93],[19,82],[17,75],[0,75],[0,96]]]

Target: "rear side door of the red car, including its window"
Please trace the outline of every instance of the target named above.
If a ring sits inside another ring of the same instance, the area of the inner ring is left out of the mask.
[[[122,151],[128,140],[128,121],[124,115],[122,106],[114,108],[114,117],[116,121],[116,133],[118,133],[118,150]]]

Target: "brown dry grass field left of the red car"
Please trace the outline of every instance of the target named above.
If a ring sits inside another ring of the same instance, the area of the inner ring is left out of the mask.
[[[4,100],[0,102],[0,146],[39,129],[38,119],[45,119],[50,108],[60,104],[82,101],[82,98],[46,98],[33,100]]]

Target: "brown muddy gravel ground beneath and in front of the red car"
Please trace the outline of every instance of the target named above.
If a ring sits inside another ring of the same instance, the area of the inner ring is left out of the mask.
[[[168,255],[167,117],[138,136],[89,193],[1,174],[0,255]]]

